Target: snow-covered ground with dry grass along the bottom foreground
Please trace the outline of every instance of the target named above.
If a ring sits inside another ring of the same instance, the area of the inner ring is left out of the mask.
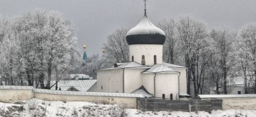
[[[0,103],[0,116],[256,116],[256,110],[218,110],[199,112],[142,112],[138,109],[124,109],[125,106],[103,105],[83,101],[44,101],[31,99],[15,103]]]

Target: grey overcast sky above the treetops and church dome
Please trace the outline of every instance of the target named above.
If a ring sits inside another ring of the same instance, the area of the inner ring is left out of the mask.
[[[157,25],[163,19],[178,19],[189,14],[207,23],[208,29],[227,27],[239,30],[256,21],[255,0],[147,0],[147,16]],[[71,20],[78,37],[78,48],[84,43],[88,55],[101,54],[106,36],[120,27],[132,28],[143,17],[143,0],[0,0],[0,19],[35,9],[57,10]]]

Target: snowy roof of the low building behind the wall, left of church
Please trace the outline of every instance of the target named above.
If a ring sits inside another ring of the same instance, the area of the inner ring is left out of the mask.
[[[78,80],[78,81],[73,81],[73,80],[67,80],[67,81],[59,81],[58,82],[58,90],[60,87],[62,87],[62,90],[67,90],[68,87],[73,86],[76,89],[80,90],[81,92],[86,92],[97,80],[92,79],[92,80]],[[51,86],[55,83],[56,81],[51,81]],[[51,88],[51,90],[55,90],[55,86]]]

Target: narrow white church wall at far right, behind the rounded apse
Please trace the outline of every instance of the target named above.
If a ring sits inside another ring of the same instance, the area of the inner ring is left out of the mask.
[[[179,76],[179,89],[187,93],[186,68],[172,68],[172,70],[181,72],[181,75]]]

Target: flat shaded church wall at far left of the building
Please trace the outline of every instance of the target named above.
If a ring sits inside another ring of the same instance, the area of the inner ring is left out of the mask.
[[[97,71],[96,92],[122,93],[122,68]]]

